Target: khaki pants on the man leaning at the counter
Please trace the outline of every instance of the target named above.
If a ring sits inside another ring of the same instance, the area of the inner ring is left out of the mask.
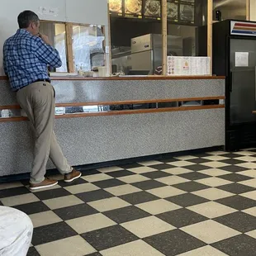
[[[45,179],[49,157],[59,173],[70,173],[72,168],[64,158],[54,132],[55,91],[52,85],[47,82],[31,83],[17,92],[17,101],[35,130],[31,183],[41,183]]]

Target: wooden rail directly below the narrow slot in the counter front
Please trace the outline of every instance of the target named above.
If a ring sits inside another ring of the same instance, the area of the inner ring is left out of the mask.
[[[121,115],[135,115],[135,114],[148,114],[148,113],[159,113],[159,112],[171,112],[171,111],[197,111],[206,109],[220,109],[225,108],[225,105],[209,105],[209,106],[193,106],[193,107],[166,107],[166,108],[153,108],[144,110],[126,110],[126,111],[106,111],[106,112],[92,112],[82,114],[65,114],[55,116],[56,119],[64,118],[82,118],[89,116],[121,116]],[[0,118],[0,122],[11,122],[11,121],[27,121],[25,116]]]

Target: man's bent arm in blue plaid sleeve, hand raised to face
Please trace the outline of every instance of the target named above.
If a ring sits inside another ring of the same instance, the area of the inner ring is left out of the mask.
[[[36,40],[35,54],[40,61],[53,68],[59,68],[62,65],[58,50],[50,45],[47,36],[40,35],[40,38]]]

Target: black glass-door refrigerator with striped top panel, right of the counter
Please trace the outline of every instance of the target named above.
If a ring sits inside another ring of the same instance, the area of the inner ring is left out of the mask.
[[[198,36],[199,55],[206,55],[206,27],[198,29]],[[256,22],[214,23],[212,46],[213,74],[226,77],[225,150],[255,147]]]

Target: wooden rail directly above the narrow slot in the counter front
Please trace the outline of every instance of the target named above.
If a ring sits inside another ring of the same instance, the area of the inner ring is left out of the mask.
[[[119,101],[119,102],[73,102],[73,103],[57,103],[56,107],[83,107],[83,106],[96,106],[96,105],[129,105],[129,104],[145,104],[145,103],[164,103],[164,102],[195,102],[207,100],[224,100],[225,96],[213,97],[181,97],[174,99],[152,99],[140,101]],[[18,105],[0,106],[0,110],[4,109],[20,109]]]

